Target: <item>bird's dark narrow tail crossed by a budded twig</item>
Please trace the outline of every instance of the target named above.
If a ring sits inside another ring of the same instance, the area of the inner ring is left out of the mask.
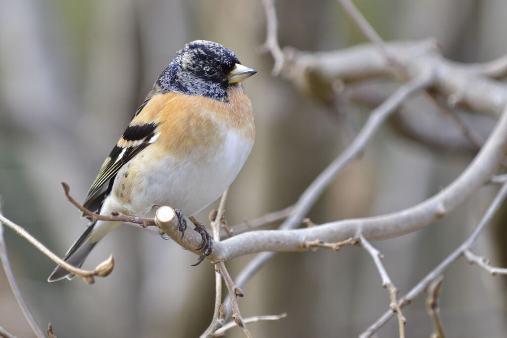
[[[63,257],[63,260],[65,260],[68,264],[78,268],[83,265],[86,257],[88,257],[90,251],[92,251],[95,244],[97,244],[88,241],[88,237],[90,237],[90,234],[94,227],[95,222],[90,223],[88,227],[86,227],[85,231],[83,231],[77,241],[74,242],[70,249],[68,249],[65,257]],[[70,280],[74,278],[74,275],[63,269],[61,266],[57,266],[53,273],[49,276],[48,282],[55,282],[65,277]]]

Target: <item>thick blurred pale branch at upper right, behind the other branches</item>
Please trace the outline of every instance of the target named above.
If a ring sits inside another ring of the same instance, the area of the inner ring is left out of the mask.
[[[481,76],[469,65],[442,57],[434,39],[416,42],[386,43],[389,55],[396,55],[411,77],[428,71],[436,74],[434,90],[441,96],[452,95],[453,102],[468,106],[481,114],[498,117],[507,102],[507,86]],[[320,99],[333,99],[332,84],[378,77],[393,78],[395,71],[386,65],[376,46],[362,44],[332,52],[302,52],[285,48],[286,71],[283,76],[304,92]],[[329,93],[322,94],[328,85]],[[318,86],[317,86],[318,85]],[[315,89],[315,91],[314,91]]]

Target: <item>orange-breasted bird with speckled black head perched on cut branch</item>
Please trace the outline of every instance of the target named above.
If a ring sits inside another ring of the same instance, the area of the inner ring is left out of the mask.
[[[250,154],[255,124],[241,82],[255,73],[218,43],[186,44],[135,111],[83,206],[100,215],[138,217],[154,217],[158,206],[170,206],[182,237],[185,216],[201,234],[199,264],[211,253],[212,242],[192,216],[220,197]],[[64,260],[81,267],[95,245],[120,224],[90,222]],[[48,282],[64,278],[74,275],[57,266]]]

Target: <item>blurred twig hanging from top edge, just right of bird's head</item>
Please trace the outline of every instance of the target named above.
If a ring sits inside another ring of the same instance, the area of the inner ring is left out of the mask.
[[[275,60],[272,74],[278,76],[285,63],[285,57],[278,44],[278,19],[274,0],[263,0],[262,5],[266,13],[266,42],[262,46],[264,50],[269,51]]]

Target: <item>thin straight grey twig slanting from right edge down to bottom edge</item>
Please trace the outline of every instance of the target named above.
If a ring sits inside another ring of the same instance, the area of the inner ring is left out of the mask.
[[[430,271],[419,283],[417,283],[407,294],[405,294],[400,302],[398,303],[401,308],[410,304],[415,297],[417,297],[421,292],[423,292],[428,285],[438,278],[448,266],[450,266],[454,261],[456,261],[459,257],[464,255],[465,250],[469,249],[474,242],[477,240],[480,233],[484,230],[484,228],[489,224],[494,214],[500,208],[503,200],[507,196],[507,182],[503,183],[500,190],[496,194],[495,198],[491,202],[488,207],[488,210],[484,213],[481,221],[478,226],[472,232],[472,234],[467,238],[465,242],[463,242],[456,250],[454,250],[449,256],[447,256],[440,264]],[[393,317],[393,313],[391,310],[386,311],[379,319],[377,319],[372,325],[370,325],[365,332],[361,333],[361,337],[367,338],[372,336],[380,327],[382,327],[385,323],[389,321]]]

